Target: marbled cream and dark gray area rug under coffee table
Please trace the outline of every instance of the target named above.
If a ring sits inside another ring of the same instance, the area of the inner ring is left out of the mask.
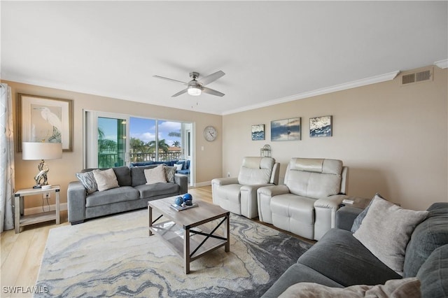
[[[142,209],[51,229],[34,297],[260,297],[310,243],[230,216],[224,248],[191,262],[148,236]]]

